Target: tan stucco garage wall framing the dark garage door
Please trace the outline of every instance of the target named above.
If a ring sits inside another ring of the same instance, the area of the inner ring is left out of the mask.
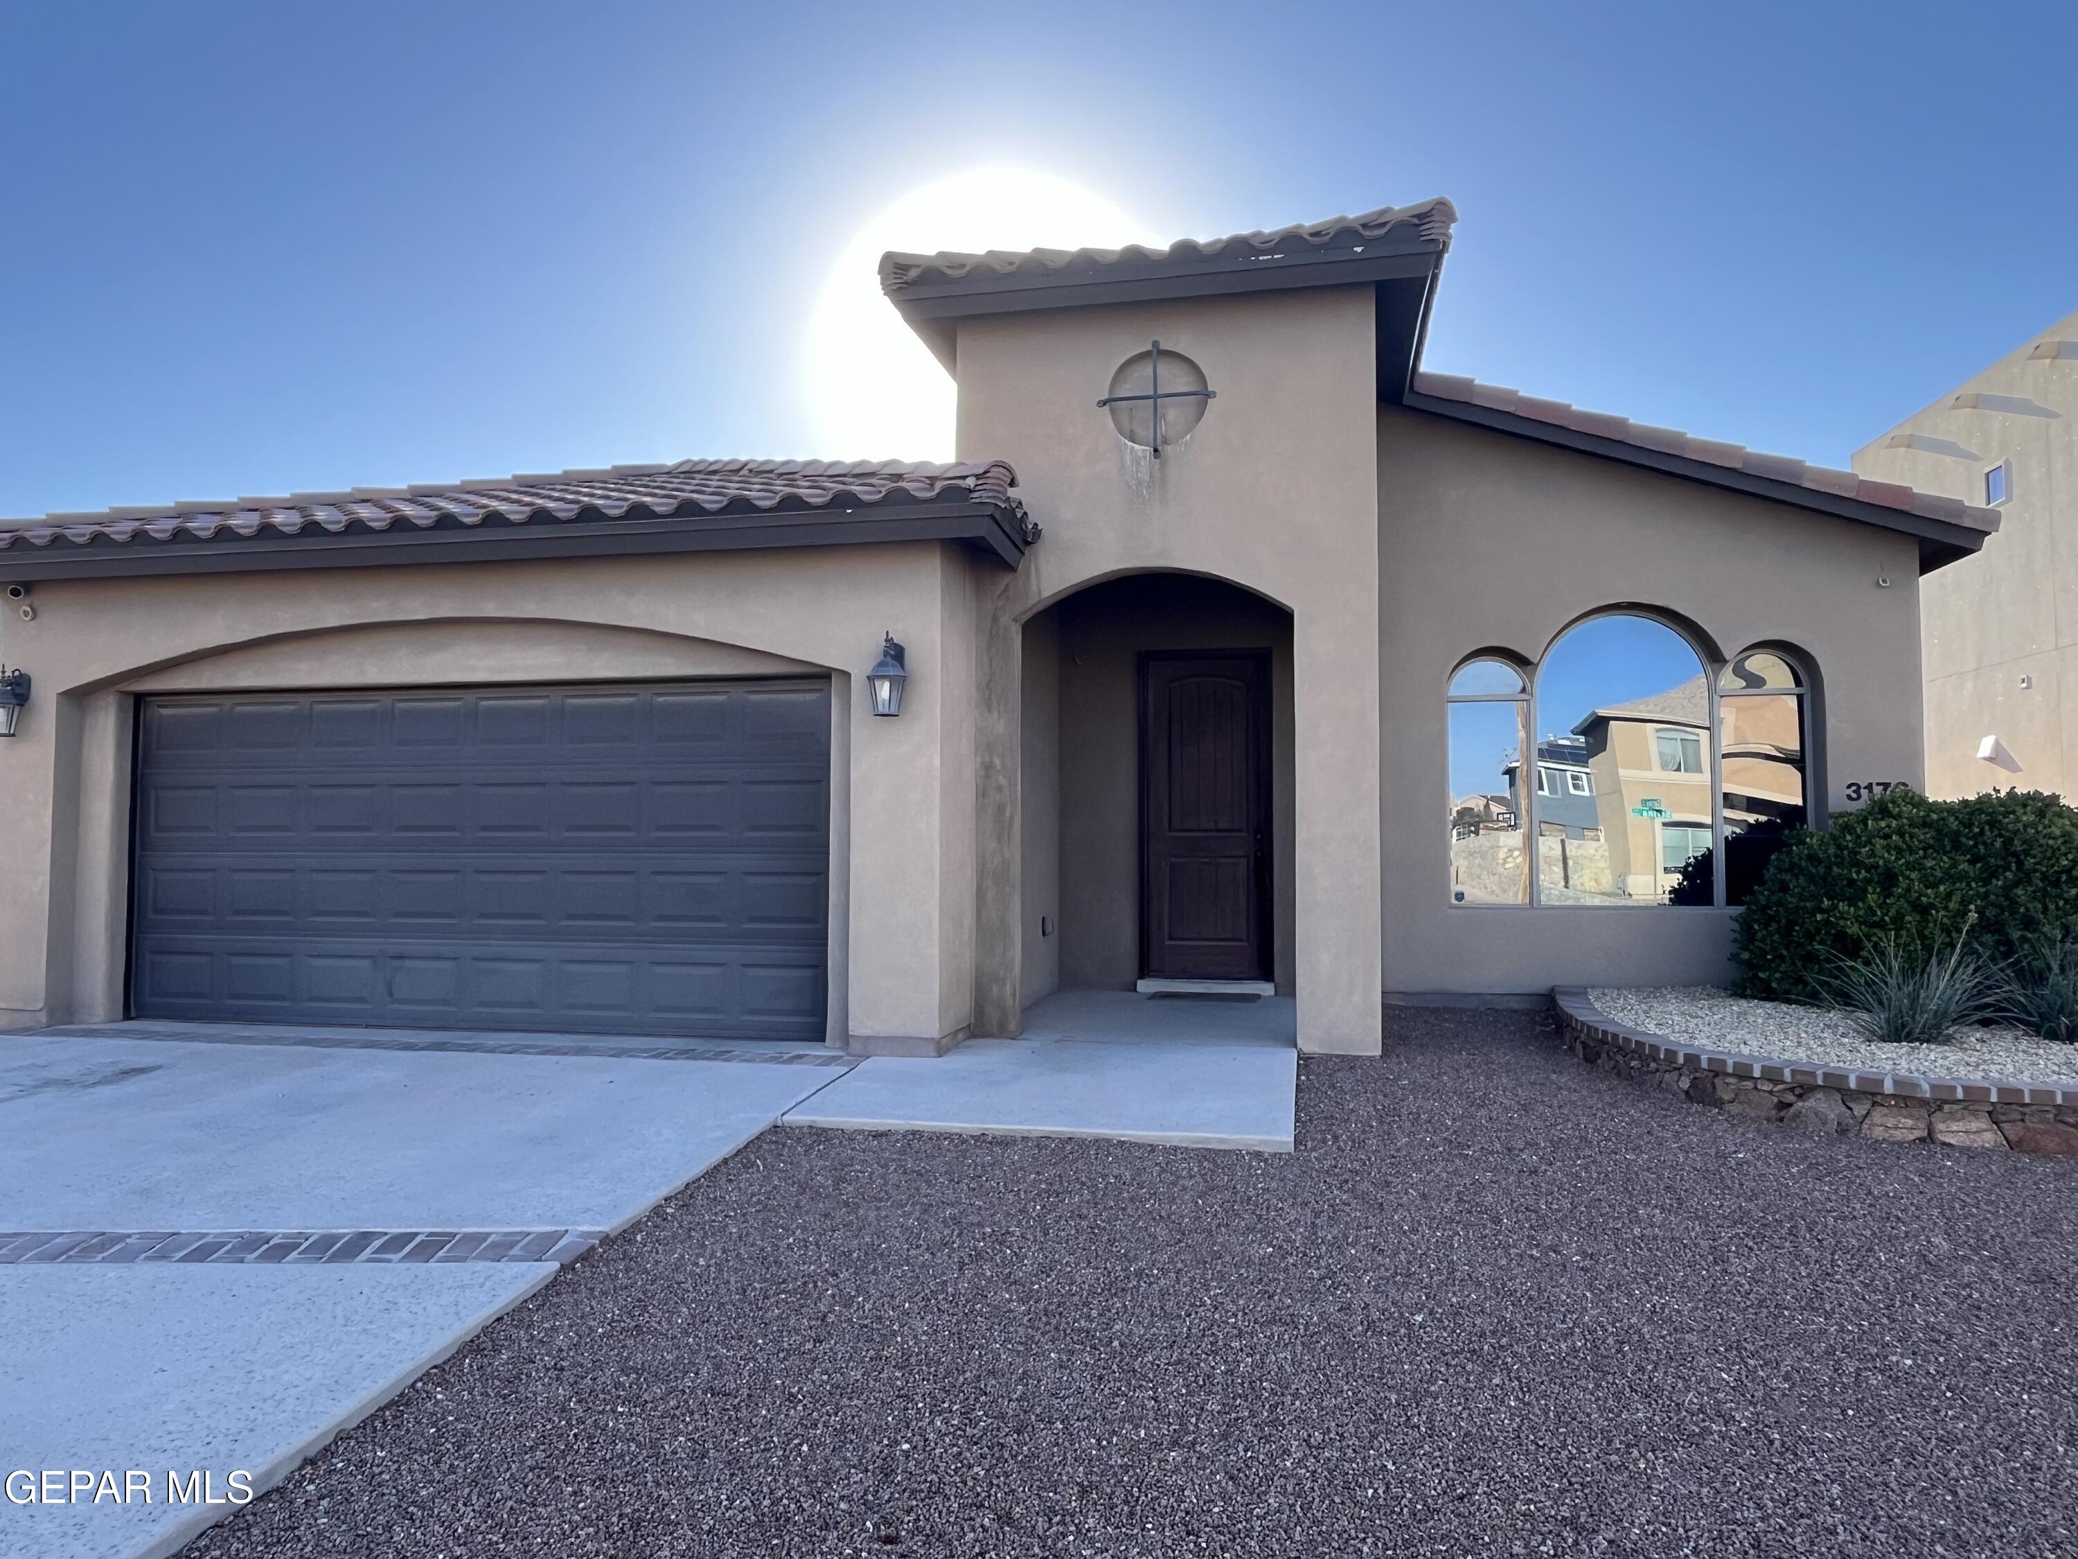
[[[952,545],[337,567],[35,588],[0,659],[0,1027],[123,1012],[139,694],[823,671],[833,682],[831,1037],[941,1048],[973,1019],[975,580]],[[862,673],[908,646],[900,719]]]

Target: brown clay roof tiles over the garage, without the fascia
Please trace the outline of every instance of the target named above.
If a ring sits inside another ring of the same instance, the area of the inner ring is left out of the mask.
[[[1022,507],[1004,461],[904,466],[823,459],[682,459],[675,466],[503,476],[428,486],[357,486],[349,493],[172,503],[166,507],[0,520],[0,551],[73,543],[235,538],[276,532],[341,534],[434,526],[553,524],[584,518],[682,520],[719,513],[871,509],[881,503],[985,503]]]

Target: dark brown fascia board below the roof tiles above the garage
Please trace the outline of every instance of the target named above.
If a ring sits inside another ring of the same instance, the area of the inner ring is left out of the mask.
[[[162,574],[495,563],[513,559],[644,557],[785,547],[856,547],[889,540],[962,540],[1016,567],[1031,545],[1024,518],[997,503],[904,503],[794,513],[700,513],[686,520],[530,520],[430,530],[345,534],[175,536],[168,540],[54,540],[0,553],[0,580],[98,580]]]

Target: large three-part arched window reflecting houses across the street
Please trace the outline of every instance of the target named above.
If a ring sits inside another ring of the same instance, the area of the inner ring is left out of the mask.
[[[1808,686],[1787,653],[1721,669],[1640,613],[1590,617],[1536,667],[1450,680],[1450,898],[1743,904],[1810,825]]]

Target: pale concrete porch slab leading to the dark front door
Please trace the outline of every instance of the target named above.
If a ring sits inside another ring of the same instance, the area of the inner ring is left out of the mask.
[[[1288,1154],[1297,1008],[1056,992],[1022,1039],[935,1058],[875,1056],[781,1116],[788,1127],[1114,1137]]]

